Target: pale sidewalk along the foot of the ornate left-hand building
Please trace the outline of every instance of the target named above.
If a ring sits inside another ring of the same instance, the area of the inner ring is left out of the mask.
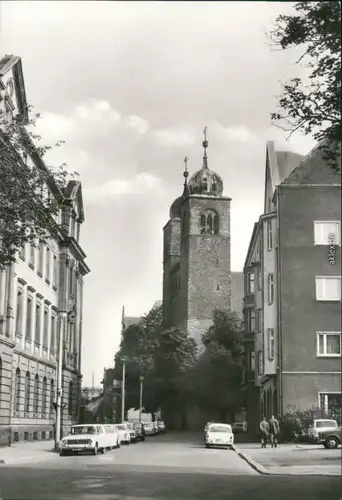
[[[55,456],[54,441],[33,441],[16,443],[0,448],[0,465],[11,465],[24,462],[39,462]]]

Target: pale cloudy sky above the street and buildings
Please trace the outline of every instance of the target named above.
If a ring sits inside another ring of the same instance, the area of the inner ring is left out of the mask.
[[[121,311],[162,299],[162,228],[182,193],[183,159],[209,167],[231,202],[232,270],[263,211],[266,141],[307,154],[313,141],[271,126],[281,82],[304,74],[266,30],[285,2],[0,2],[0,56],[22,58],[46,162],[82,181],[86,221],[82,371],[113,365]]]

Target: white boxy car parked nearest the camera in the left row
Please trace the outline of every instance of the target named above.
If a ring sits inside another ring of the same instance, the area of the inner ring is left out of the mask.
[[[108,435],[103,425],[73,425],[61,441],[60,456],[67,453],[90,452],[96,455],[107,448]]]

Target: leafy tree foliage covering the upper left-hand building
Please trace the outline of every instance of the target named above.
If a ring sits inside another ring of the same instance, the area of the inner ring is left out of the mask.
[[[47,167],[44,155],[52,146],[39,146],[42,138],[32,130],[40,118],[21,115],[10,121],[0,115],[0,269],[16,260],[25,243],[57,237],[57,215],[65,203],[69,174],[65,164]],[[62,141],[55,146],[60,147]]]

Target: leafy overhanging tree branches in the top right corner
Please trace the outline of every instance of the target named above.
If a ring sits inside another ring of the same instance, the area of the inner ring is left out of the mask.
[[[296,130],[320,142],[323,159],[340,173],[341,147],[341,2],[298,2],[296,15],[280,15],[269,35],[285,50],[302,47],[297,63],[306,60],[309,83],[293,78],[285,83],[272,113],[285,122],[290,135]]]

